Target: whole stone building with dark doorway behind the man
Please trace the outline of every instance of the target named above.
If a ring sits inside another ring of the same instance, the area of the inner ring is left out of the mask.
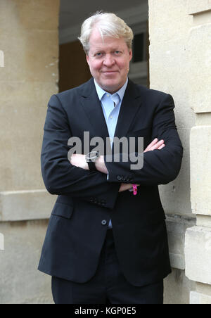
[[[79,15],[71,2],[0,1],[1,304],[53,303],[51,278],[37,271],[56,201],[40,170],[46,105],[65,83],[77,86],[90,77],[84,64],[72,82],[78,69],[68,57],[76,61],[81,54],[79,63],[85,57],[77,43],[80,21],[65,20],[68,12]],[[172,94],[184,146],[179,177],[160,186],[172,264],[165,304],[211,304],[211,1],[144,0],[133,8],[112,2],[103,9],[118,13],[136,34],[139,53],[129,76]]]

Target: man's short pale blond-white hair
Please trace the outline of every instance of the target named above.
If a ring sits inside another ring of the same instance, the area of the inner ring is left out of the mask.
[[[86,54],[89,53],[89,39],[94,28],[100,32],[102,39],[103,37],[123,38],[128,49],[132,49],[134,34],[124,20],[117,17],[114,13],[102,13],[98,11],[84,21],[81,36],[78,37]]]

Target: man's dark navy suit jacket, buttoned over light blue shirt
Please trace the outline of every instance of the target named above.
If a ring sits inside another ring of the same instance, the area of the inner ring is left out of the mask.
[[[75,167],[68,160],[71,136],[83,141],[84,132],[90,132],[90,139],[101,136],[105,144],[109,136],[94,80],[51,97],[41,172],[46,189],[58,198],[41,253],[41,272],[79,283],[89,281],[96,272],[111,218],[127,281],[144,286],[170,274],[158,184],[172,182],[181,167],[183,148],[173,109],[172,96],[129,81],[115,136],[143,136],[145,148],[157,137],[166,146],[144,153],[141,170],[130,170],[131,163],[106,162],[107,180],[106,174]],[[140,184],[137,196],[129,191],[119,193],[122,183]]]

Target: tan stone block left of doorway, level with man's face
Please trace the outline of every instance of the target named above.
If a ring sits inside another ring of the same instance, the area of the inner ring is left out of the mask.
[[[0,34],[0,42],[4,51],[0,82],[58,82],[58,30],[18,34],[7,30]]]

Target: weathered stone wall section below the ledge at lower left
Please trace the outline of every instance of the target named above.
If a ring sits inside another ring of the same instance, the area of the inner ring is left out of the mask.
[[[0,222],[0,303],[52,304],[51,277],[37,270],[47,223]]]

